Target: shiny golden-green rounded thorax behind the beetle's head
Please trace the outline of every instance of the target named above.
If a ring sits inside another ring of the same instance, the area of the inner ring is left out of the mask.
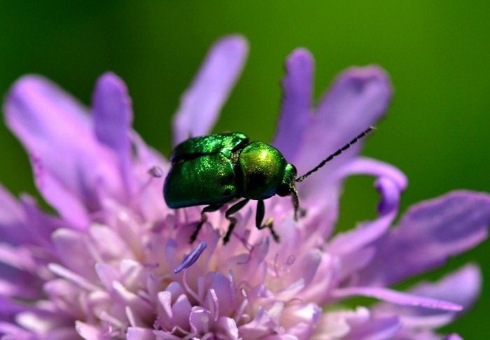
[[[262,142],[248,144],[239,155],[242,196],[248,199],[267,199],[276,194],[283,180],[286,160],[276,148]]]

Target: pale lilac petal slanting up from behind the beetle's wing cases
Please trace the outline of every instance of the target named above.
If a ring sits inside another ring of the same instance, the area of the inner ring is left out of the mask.
[[[174,117],[174,144],[203,136],[218,118],[244,66],[248,45],[241,36],[227,36],[208,52]]]

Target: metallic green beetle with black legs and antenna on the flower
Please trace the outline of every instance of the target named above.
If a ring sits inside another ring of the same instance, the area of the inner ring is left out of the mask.
[[[275,194],[281,197],[291,196],[297,219],[300,204],[295,182],[301,182],[323,167],[372,129],[374,127],[369,127],[298,178],[295,166],[286,162],[279,150],[260,141],[251,142],[244,134],[211,134],[188,139],[176,146],[170,157],[172,168],[163,187],[165,202],[169,208],[206,205],[202,209],[201,220],[195,232],[190,236],[190,242],[193,242],[207,221],[206,213],[217,211],[235,199],[244,198],[225,212],[230,226],[223,243],[228,243],[237,223],[232,214],[243,208],[249,200],[256,200],[256,227],[267,227],[274,240],[279,241],[271,218],[262,225],[265,215],[264,200]]]

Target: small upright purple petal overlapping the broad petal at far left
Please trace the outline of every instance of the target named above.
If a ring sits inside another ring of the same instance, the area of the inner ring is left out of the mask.
[[[132,184],[130,129],[133,113],[123,80],[113,73],[101,76],[95,87],[92,111],[95,136],[118,156],[121,176],[129,190],[128,186]]]

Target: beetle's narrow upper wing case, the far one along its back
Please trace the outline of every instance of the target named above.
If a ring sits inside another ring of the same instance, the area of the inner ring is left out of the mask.
[[[248,137],[237,132],[195,137],[176,146],[170,160],[176,163],[216,153],[230,156],[233,150],[239,150],[246,144],[248,144]]]

